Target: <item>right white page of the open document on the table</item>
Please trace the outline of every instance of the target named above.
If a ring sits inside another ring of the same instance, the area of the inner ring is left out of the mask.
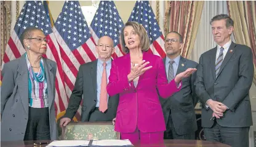
[[[94,140],[92,145],[98,146],[126,146],[132,145],[129,140]]]

